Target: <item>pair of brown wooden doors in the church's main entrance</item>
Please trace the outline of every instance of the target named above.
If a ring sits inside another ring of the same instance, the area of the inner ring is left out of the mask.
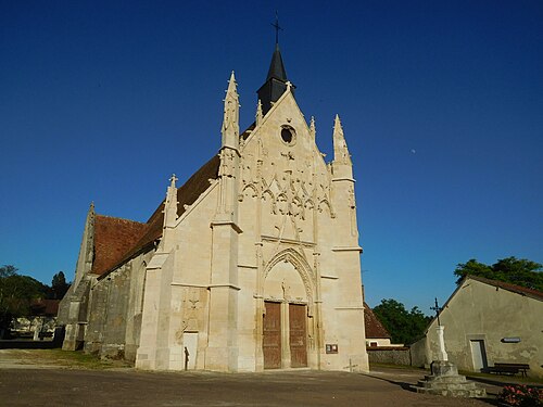
[[[307,366],[307,306],[301,304],[264,303],[266,313],[263,323],[262,347],[264,369],[281,367],[283,353],[290,353],[290,367]],[[282,316],[281,309],[288,315]],[[282,318],[281,318],[282,317]],[[281,323],[281,321],[288,321]],[[286,330],[283,326],[288,326]]]

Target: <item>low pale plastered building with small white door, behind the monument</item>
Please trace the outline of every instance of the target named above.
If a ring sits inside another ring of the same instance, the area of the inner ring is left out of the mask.
[[[481,371],[495,364],[526,364],[528,376],[543,377],[543,293],[468,276],[440,314],[449,360],[459,370]],[[438,358],[434,319],[412,345],[413,365]]]

